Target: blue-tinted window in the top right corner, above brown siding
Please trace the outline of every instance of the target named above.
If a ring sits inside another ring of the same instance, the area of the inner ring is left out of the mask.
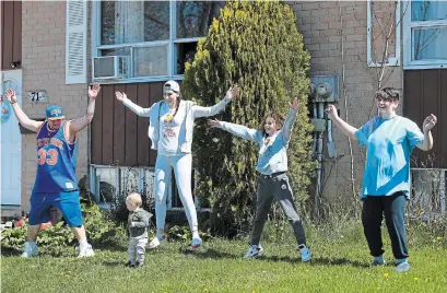
[[[411,1],[404,5],[409,5],[403,16],[404,69],[446,68],[447,1]]]

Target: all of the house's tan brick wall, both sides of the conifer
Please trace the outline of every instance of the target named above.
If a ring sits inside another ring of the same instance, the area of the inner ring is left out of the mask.
[[[374,114],[373,96],[377,86],[376,69],[366,66],[366,1],[293,1],[289,2],[297,14],[297,27],[304,35],[305,46],[311,55],[311,74],[343,74],[342,45],[344,55],[344,82],[340,82],[341,117],[360,127]],[[91,4],[89,4],[91,5]],[[341,21],[342,16],[342,21]],[[45,90],[50,103],[60,104],[69,118],[81,116],[87,105],[86,85],[64,84],[66,67],[66,2],[25,1],[22,11],[23,24],[23,92]],[[90,28],[89,28],[90,32]],[[90,44],[90,39],[87,40]],[[87,48],[90,60],[90,46]],[[402,87],[402,70],[389,68],[392,73],[388,86]],[[90,72],[90,70],[87,71]],[[343,86],[344,92],[343,92]],[[346,103],[346,107],[344,104]],[[23,108],[32,118],[45,116],[47,105],[32,104],[24,99]],[[401,108],[400,108],[401,109]],[[78,178],[87,173],[89,131],[79,136]],[[324,163],[328,198],[346,198],[351,194],[351,156],[348,139],[333,130],[339,157],[337,163],[327,159]],[[325,145],[326,145],[325,140]],[[353,160],[356,185],[362,184],[363,151],[354,141]],[[30,195],[36,172],[35,137],[23,136],[22,150],[22,208],[30,210]],[[325,156],[328,157],[325,150]],[[330,172],[331,171],[331,172]]]

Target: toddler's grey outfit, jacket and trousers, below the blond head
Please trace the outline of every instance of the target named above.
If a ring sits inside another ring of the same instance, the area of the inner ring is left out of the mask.
[[[129,239],[129,262],[134,266],[144,263],[145,246],[148,244],[148,227],[152,214],[143,209],[138,209],[129,213],[128,230]]]

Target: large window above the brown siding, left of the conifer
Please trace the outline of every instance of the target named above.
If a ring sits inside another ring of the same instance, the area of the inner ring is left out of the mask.
[[[125,82],[181,78],[225,1],[93,2],[93,56],[129,60]],[[114,83],[117,83],[116,80]]]

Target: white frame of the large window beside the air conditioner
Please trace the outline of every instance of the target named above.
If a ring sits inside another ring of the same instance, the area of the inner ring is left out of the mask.
[[[142,42],[142,43],[128,43],[118,45],[101,45],[101,1],[92,2],[92,62],[94,57],[99,57],[101,49],[119,49],[126,47],[152,47],[154,45],[168,45],[167,48],[167,74],[156,77],[136,77],[123,80],[101,80],[102,84],[113,83],[137,83],[137,82],[157,82],[166,80],[183,80],[185,74],[175,74],[176,72],[176,45],[180,43],[199,42],[202,37],[191,38],[174,38],[176,36],[176,13],[177,1],[169,1],[169,39],[155,40],[155,42]],[[131,50],[132,51],[132,50]],[[132,60],[132,55],[130,56]],[[130,62],[132,67],[132,62]],[[93,68],[92,68],[93,70]],[[93,77],[93,73],[92,73]]]

